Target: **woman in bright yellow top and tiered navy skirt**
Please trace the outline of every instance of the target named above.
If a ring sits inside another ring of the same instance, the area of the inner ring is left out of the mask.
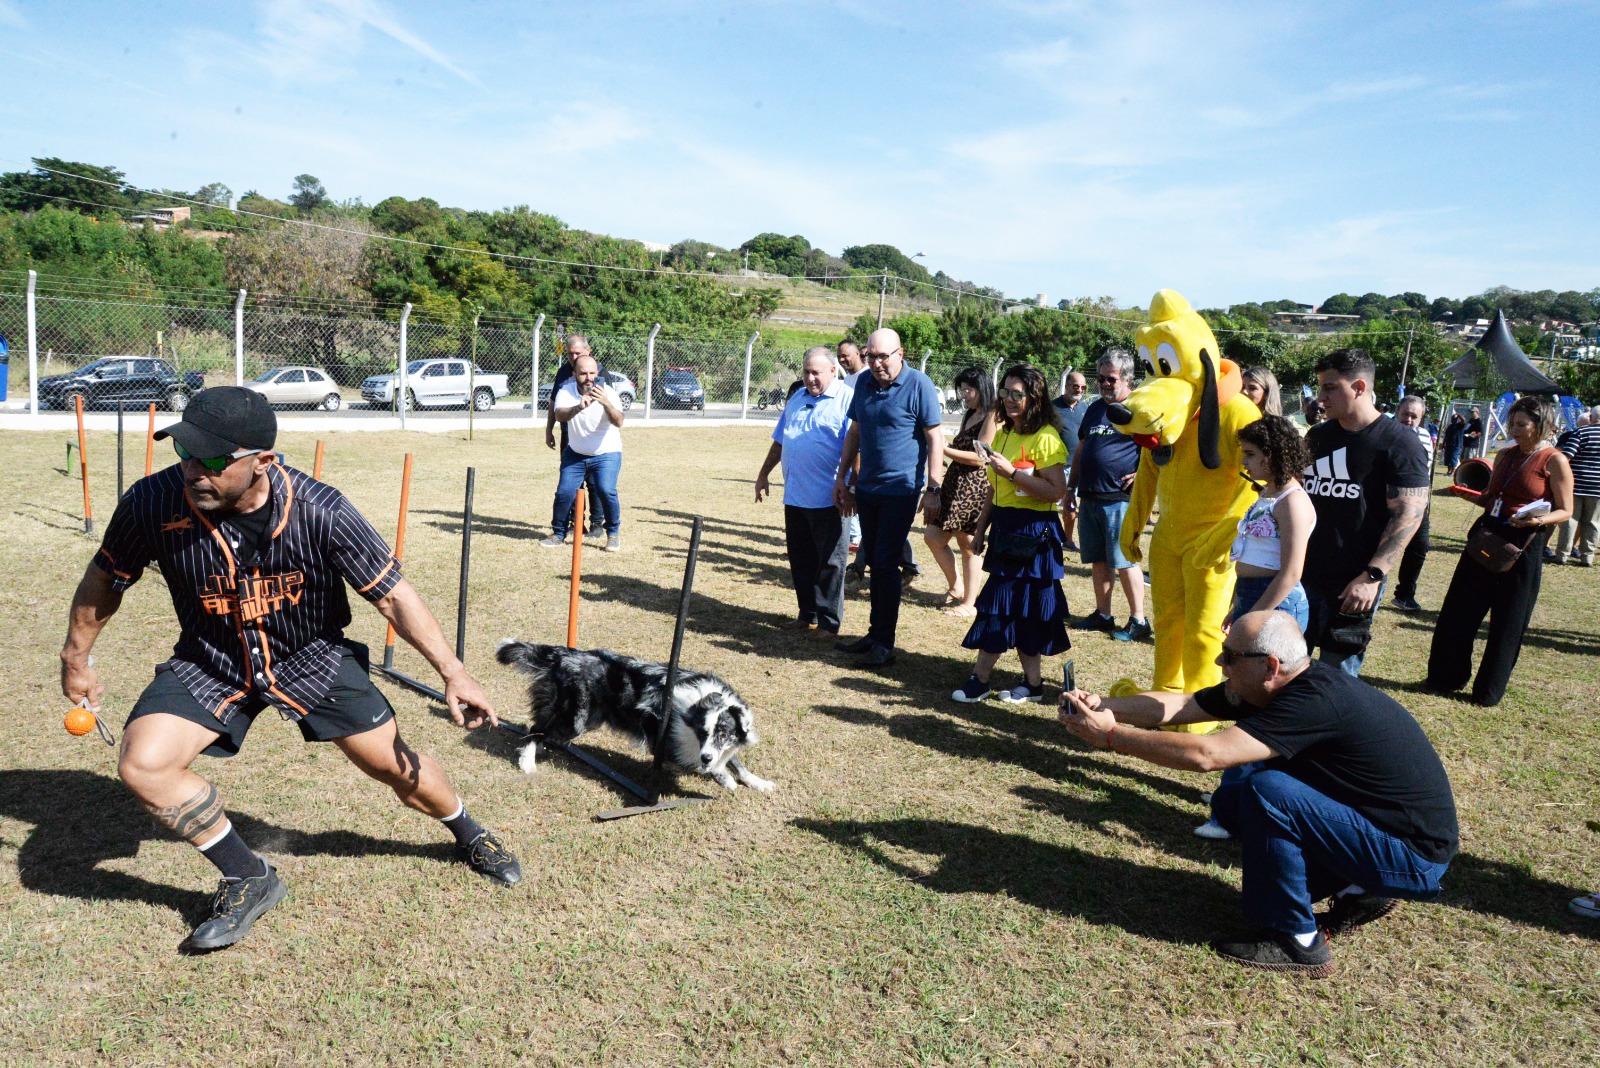
[[[1040,659],[1066,652],[1066,532],[1056,502],[1067,488],[1067,446],[1056,427],[1050,387],[1037,368],[1008,368],[995,401],[994,446],[986,451],[994,499],[978,516],[973,550],[984,553],[989,580],[978,595],[978,619],[962,641],[978,651],[966,683],[950,694],[960,702],[990,695],[989,673],[1008,649],[1022,662],[1022,684],[1000,700],[1040,702]]]

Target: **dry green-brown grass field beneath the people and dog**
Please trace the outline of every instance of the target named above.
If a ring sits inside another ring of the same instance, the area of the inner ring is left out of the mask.
[[[110,750],[61,729],[67,601],[94,548],[66,435],[0,435],[0,1063],[291,1065],[1592,1065],[1600,924],[1566,899],[1600,887],[1594,692],[1600,572],[1552,568],[1498,710],[1424,695],[1432,612],[1379,614],[1370,681],[1442,751],[1462,854],[1443,900],[1334,946],[1339,974],[1293,982],[1218,961],[1235,927],[1238,851],[1190,835],[1214,779],[1067,740],[1051,713],[955,705],[963,625],[915,587],[901,659],[856,671],[778,632],[794,612],[781,505],[755,505],[758,428],[624,432],[627,552],[584,556],[581,644],[666,659],[688,521],[706,516],[685,664],[755,707],[750,766],[774,779],[714,804],[618,823],[629,803],[554,758],[536,777],[506,734],[462,734],[386,687],[402,729],[522,855],[504,892],[448,862],[448,836],[331,747],[262,718],[240,758],[202,759],[290,886],[238,946],[184,958],[213,870],[158,831]],[[142,443],[141,443],[142,446]],[[285,435],[310,467],[312,440]],[[453,630],[466,467],[477,467],[469,667],[525,721],[501,636],[560,643],[568,556],[539,550],[555,457],[533,432],[339,433],[326,480],[394,534],[416,452],[406,572]],[[94,508],[115,496],[93,435]],[[170,452],[158,446],[162,462]],[[142,470],[142,448],[130,449]],[[75,475],[75,472],[74,472]],[[1419,598],[1437,606],[1467,507],[1435,500]],[[926,553],[918,545],[918,553]],[[930,566],[931,569],[931,566]],[[1067,579],[1074,611],[1088,577]],[[382,627],[357,603],[352,636]],[[866,601],[848,604],[859,633]],[[109,716],[165,659],[158,576],[96,649]],[[1083,636],[1080,684],[1149,676],[1150,648]],[[426,673],[421,657],[400,664]],[[1003,660],[997,681],[1008,681]],[[1059,678],[1059,662],[1048,665]],[[643,758],[592,748],[624,772]],[[709,780],[680,780],[715,791]]]

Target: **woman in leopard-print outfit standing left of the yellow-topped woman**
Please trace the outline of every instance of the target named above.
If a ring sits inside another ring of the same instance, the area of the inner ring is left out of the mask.
[[[928,544],[939,571],[944,572],[947,592],[946,614],[971,619],[973,603],[982,587],[984,560],[973,552],[973,534],[978,532],[978,516],[994,496],[994,488],[984,473],[984,457],[978,441],[989,444],[995,436],[994,398],[995,387],[982,368],[966,368],[955,376],[955,390],[966,408],[962,409],[962,428],[944,448],[944,481],[939,489],[939,521],[923,526],[922,539]],[[950,537],[962,550],[957,574]]]

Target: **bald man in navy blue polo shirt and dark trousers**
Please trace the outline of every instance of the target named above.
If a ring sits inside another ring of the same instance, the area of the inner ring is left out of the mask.
[[[930,523],[939,516],[944,427],[939,390],[933,379],[906,365],[899,334],[874,331],[862,355],[867,373],[856,379],[850,403],[853,424],[834,481],[834,504],[842,515],[861,513],[861,545],[870,553],[867,566],[872,568],[872,622],[866,636],[835,648],[864,654],[864,667],[885,667],[894,662],[901,545],[910,534],[918,502]],[[851,486],[850,472],[858,454],[861,470]]]

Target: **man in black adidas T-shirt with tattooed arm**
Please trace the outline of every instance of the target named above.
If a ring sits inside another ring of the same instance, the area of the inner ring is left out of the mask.
[[[1418,436],[1373,403],[1376,368],[1362,349],[1317,363],[1326,419],[1310,428],[1306,492],[1317,526],[1301,582],[1310,601],[1306,641],[1347,675],[1362,673],[1384,582],[1422,521],[1427,454]]]

